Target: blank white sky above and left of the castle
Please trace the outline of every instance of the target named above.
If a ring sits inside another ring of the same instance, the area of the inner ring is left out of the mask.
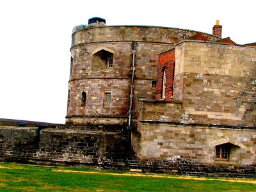
[[[256,42],[255,0],[29,1],[0,3],[0,118],[65,123],[72,28],[91,17],[107,25],[148,25]]]

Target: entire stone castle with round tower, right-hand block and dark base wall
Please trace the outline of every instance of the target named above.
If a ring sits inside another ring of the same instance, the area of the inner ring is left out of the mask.
[[[6,138],[2,121],[0,156],[255,177],[256,44],[237,45],[221,29],[106,26],[99,17],[76,26],[66,124],[24,125],[22,139],[39,147],[20,152],[23,141],[6,147],[17,137]]]

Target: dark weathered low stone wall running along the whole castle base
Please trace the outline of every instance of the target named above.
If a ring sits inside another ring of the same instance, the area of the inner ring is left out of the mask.
[[[70,126],[58,125],[61,129],[46,128],[40,132],[38,127],[1,126],[0,159],[36,164],[83,164],[106,170],[137,169],[145,173],[256,178],[255,164],[207,164],[181,155],[139,158],[129,150],[129,143],[122,131],[106,131],[110,127],[101,128],[105,131],[92,127],[92,131],[87,126],[69,129]],[[141,142],[140,132],[133,132],[132,135],[138,136],[137,141]],[[252,138],[250,141],[253,141]],[[141,147],[143,145],[140,143],[138,149]]]

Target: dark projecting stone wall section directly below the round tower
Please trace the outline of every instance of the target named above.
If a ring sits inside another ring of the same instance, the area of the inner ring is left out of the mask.
[[[122,134],[117,132],[44,129],[36,157],[51,161],[100,163],[106,154],[124,149]]]

